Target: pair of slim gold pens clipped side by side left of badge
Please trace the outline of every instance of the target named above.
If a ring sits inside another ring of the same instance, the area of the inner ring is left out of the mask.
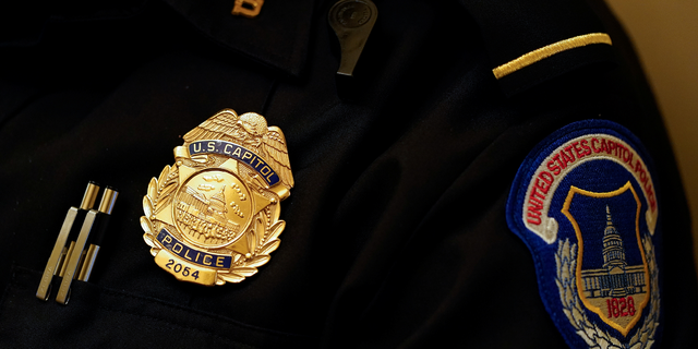
[[[56,301],[60,304],[68,304],[73,279],[89,280],[111,210],[119,195],[115,189],[107,186],[101,194],[98,208],[94,209],[98,193],[99,185],[89,182],[80,207],[73,206],[68,209],[51,255],[46,263],[39,288],[36,290],[38,299],[43,301],[49,299],[55,276],[60,278],[60,288],[56,296]],[[80,219],[84,219],[82,227],[74,225]]]

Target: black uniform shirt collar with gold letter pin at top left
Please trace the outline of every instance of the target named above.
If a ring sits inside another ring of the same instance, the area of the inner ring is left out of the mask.
[[[29,47],[41,41],[51,23],[128,20],[147,12],[148,0],[91,2],[36,0],[7,9],[0,4],[0,47]],[[158,1],[159,2],[159,1]],[[315,0],[268,0],[254,19],[233,15],[234,0],[164,0],[214,43],[277,72],[300,76],[306,61]],[[1,11],[1,10],[7,11]],[[3,29],[4,28],[4,29]]]

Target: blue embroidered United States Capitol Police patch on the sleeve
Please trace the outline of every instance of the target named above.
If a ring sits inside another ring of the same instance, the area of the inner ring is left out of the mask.
[[[628,130],[587,120],[541,142],[516,176],[507,222],[531,251],[543,303],[573,348],[659,339],[661,233],[648,161]]]

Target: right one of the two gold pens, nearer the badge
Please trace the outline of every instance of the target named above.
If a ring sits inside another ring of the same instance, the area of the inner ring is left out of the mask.
[[[56,301],[58,303],[68,304],[68,301],[70,300],[70,287],[73,278],[80,275],[83,275],[83,280],[89,278],[94,261],[97,257],[96,252],[98,252],[99,249],[98,245],[95,245],[96,248],[93,249],[92,253],[89,252],[89,249],[87,251],[83,250],[87,244],[87,240],[93,231],[93,227],[95,227],[95,222],[98,220],[97,218],[101,218],[100,216],[111,215],[111,209],[113,208],[118,194],[119,192],[111,188],[105,189],[105,192],[101,195],[101,202],[99,203],[99,208],[91,209],[85,216],[85,221],[80,229],[80,236],[77,237],[77,241],[75,241],[73,252],[68,261],[68,266],[65,267],[65,273],[63,274],[63,279],[61,280],[61,286],[58,290],[58,296],[56,296]],[[97,224],[96,226],[98,227],[98,229],[95,229],[97,234],[101,234],[101,232],[104,232],[105,225]]]

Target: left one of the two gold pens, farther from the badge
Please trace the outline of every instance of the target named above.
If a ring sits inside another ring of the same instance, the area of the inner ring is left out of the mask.
[[[51,251],[51,255],[49,256],[44,274],[41,275],[41,281],[36,290],[36,298],[46,301],[51,294],[51,280],[53,279],[53,276],[58,274],[58,270],[61,269],[61,266],[67,260],[67,255],[69,253],[69,248],[65,246],[65,242],[71,238],[71,236],[73,236],[72,239],[75,239],[74,236],[77,234],[77,229],[73,229],[73,224],[79,216],[82,216],[82,214],[92,209],[95,205],[98,192],[99,186],[95,182],[87,183],[87,189],[85,190],[85,194],[83,194],[83,201],[80,204],[80,207],[72,206],[68,209],[61,230],[58,233],[56,243],[53,244],[53,250]]]

